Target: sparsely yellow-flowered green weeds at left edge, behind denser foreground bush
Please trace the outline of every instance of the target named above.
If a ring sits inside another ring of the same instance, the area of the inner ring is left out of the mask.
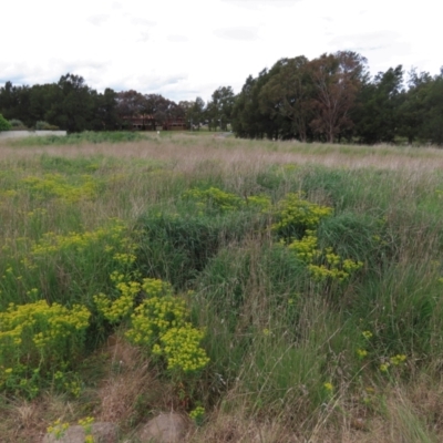
[[[33,302],[41,293],[49,301],[91,308],[93,293],[111,286],[111,272],[133,266],[135,249],[125,226],[115,219],[92,231],[50,231],[37,241],[8,241],[0,260],[0,307]]]

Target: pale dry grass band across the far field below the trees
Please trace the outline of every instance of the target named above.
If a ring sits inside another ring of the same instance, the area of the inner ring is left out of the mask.
[[[331,167],[433,171],[443,168],[443,152],[435,147],[394,147],[300,144],[291,142],[245,141],[195,137],[173,134],[164,138],[121,144],[82,144],[73,146],[11,147],[0,143],[0,161],[21,159],[33,155],[66,157],[111,155],[120,158],[148,158],[174,162],[183,173],[202,162],[216,162],[227,171],[231,167],[249,171],[269,164],[321,164]]]

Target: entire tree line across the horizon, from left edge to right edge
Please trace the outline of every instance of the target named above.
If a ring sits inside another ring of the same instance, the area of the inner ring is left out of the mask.
[[[182,119],[188,127],[233,130],[239,137],[357,142],[364,144],[443,144],[443,68],[437,75],[402,65],[374,76],[367,60],[352,51],[278,60],[241,91],[220,86],[205,103],[175,103],[137,91],[103,93],[74,74],[58,83],[0,87],[0,114],[29,127],[48,122],[69,132],[130,128],[132,116],[146,119],[145,130]]]

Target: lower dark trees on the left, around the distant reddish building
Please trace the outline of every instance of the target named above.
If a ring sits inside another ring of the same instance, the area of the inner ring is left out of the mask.
[[[0,114],[28,127],[47,122],[73,133],[131,128],[125,117],[135,115],[153,115],[161,124],[183,117],[185,112],[159,94],[115,92],[110,87],[99,93],[82,76],[68,73],[51,84],[14,86],[7,82],[0,87]]]

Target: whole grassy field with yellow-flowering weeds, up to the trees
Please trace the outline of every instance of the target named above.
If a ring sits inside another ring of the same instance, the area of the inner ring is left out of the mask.
[[[0,142],[1,442],[443,440],[442,151],[69,137]]]

